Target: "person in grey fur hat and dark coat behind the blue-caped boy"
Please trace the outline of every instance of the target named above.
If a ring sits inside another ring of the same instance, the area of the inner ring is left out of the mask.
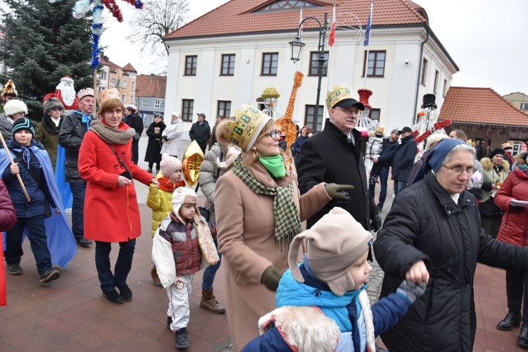
[[[60,100],[50,98],[44,101],[42,106],[44,110],[44,118],[37,123],[34,129],[34,139],[41,142],[44,149],[49,154],[51,165],[54,167],[57,161],[58,150],[58,132],[61,130],[63,119],[61,115],[64,111],[64,106]]]

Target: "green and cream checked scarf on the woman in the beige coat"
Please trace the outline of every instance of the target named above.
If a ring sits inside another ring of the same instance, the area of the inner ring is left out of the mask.
[[[291,244],[294,237],[300,234],[301,219],[299,218],[298,209],[294,203],[294,182],[290,182],[287,187],[266,187],[256,180],[249,173],[248,169],[242,163],[242,157],[239,155],[233,163],[231,169],[234,175],[237,175],[242,182],[246,184],[251,191],[256,194],[273,196],[273,216],[275,218],[275,243],[279,244],[280,250],[283,251],[286,246]]]

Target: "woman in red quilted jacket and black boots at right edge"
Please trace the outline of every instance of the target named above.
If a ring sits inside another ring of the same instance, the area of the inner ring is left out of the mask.
[[[497,240],[515,244],[528,245],[527,220],[528,209],[526,205],[517,203],[524,201],[528,204],[528,165],[527,152],[523,151],[515,156],[512,172],[504,180],[501,188],[495,195],[495,204],[505,210]],[[506,296],[508,297],[508,315],[498,323],[497,329],[510,331],[512,327],[519,327],[522,321],[521,332],[517,344],[528,347],[528,273],[522,270],[506,270]],[[521,305],[524,296],[524,307]],[[521,319],[522,317],[522,319]]]

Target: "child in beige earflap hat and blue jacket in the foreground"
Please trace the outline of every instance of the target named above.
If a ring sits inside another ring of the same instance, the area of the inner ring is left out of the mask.
[[[303,263],[299,246],[308,242]],[[372,235],[342,208],[333,208],[291,242],[289,270],[260,318],[260,337],[242,351],[375,351],[375,335],[396,324],[425,283],[403,281],[396,294],[370,306],[365,291]]]

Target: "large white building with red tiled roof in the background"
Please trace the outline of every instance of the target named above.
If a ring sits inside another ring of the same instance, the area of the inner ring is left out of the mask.
[[[332,47],[327,45],[326,33],[328,70],[322,77],[319,116],[315,118],[318,23],[303,23],[302,41],[306,46],[298,63],[290,60],[289,42],[296,37],[301,6],[303,18],[313,16],[321,23],[324,13],[328,13],[330,27],[332,3],[337,4],[338,30]],[[284,113],[294,73],[299,70],[304,78],[293,115],[299,118],[299,125],[320,131],[323,113],[327,116],[327,91],[334,84],[346,83],[357,92],[365,82],[367,47],[363,46],[363,34],[370,1],[332,3],[232,0],[168,34],[165,116],[180,111],[188,130],[196,121],[196,113],[205,113],[213,122],[215,115],[223,115],[224,111],[232,115],[243,103],[258,106],[256,99],[267,87],[275,87],[281,94],[277,110]],[[363,30],[346,13],[356,15]],[[368,67],[365,88],[373,92],[369,101],[371,118],[379,119],[386,130],[413,125],[424,94],[436,94],[436,104],[441,108],[453,74],[458,71],[429,27],[425,10],[409,0],[375,3]]]

